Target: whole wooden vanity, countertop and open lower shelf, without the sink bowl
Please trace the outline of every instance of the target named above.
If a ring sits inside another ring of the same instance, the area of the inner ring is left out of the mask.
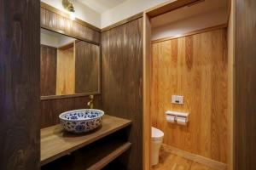
[[[90,133],[73,134],[61,125],[41,129],[42,169],[101,169],[131,147],[126,139],[116,138],[131,121],[103,116],[102,127]]]

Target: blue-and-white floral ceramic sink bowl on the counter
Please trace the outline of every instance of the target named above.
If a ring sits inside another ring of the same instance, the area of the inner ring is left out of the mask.
[[[86,133],[102,124],[104,111],[96,109],[80,109],[66,111],[59,116],[61,125],[71,133]]]

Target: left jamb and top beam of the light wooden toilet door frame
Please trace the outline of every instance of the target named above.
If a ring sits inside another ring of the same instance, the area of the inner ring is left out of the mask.
[[[229,1],[231,2],[231,0]],[[152,122],[151,122],[151,112],[150,112],[150,105],[151,105],[150,104],[150,95],[151,95],[150,85],[151,85],[153,60],[151,56],[150,19],[160,14],[166,14],[177,8],[183,8],[187,5],[200,3],[200,2],[202,2],[202,0],[177,0],[174,2],[171,0],[166,3],[162,3],[154,8],[149,8],[143,13],[143,170],[151,169],[150,145],[151,145]],[[233,127],[231,127],[231,131],[232,132],[230,133],[233,133]],[[231,153],[233,153],[232,150],[231,150]],[[230,163],[233,164],[232,161]]]

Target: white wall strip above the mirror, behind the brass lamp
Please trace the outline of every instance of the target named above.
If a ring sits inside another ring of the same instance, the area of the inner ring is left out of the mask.
[[[67,13],[67,10],[62,7],[61,0],[41,0],[43,3],[47,3],[50,6],[60,9],[61,11]],[[83,3],[73,1],[73,6],[75,8],[76,18],[84,20],[93,26],[101,27],[101,14],[97,13],[93,9],[85,6]]]

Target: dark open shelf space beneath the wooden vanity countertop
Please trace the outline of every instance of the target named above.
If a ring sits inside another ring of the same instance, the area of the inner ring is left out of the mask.
[[[131,147],[130,142],[102,139],[89,144],[72,154],[49,162],[42,170],[100,170]]]

